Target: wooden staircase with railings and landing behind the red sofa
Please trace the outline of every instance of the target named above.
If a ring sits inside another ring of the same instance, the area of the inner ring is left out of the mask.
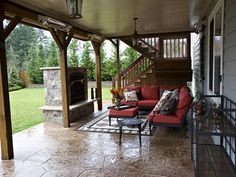
[[[133,46],[131,37],[124,43],[142,54],[120,73],[121,85],[183,85],[192,80],[190,33],[169,33],[142,36]],[[113,87],[118,78],[113,79]]]

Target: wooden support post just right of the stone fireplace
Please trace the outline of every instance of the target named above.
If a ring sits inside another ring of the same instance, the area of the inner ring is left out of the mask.
[[[97,97],[98,99],[98,110],[102,110],[102,80],[101,80],[101,58],[100,58],[100,47],[101,43],[91,41],[95,55],[96,55],[96,84],[97,84]]]

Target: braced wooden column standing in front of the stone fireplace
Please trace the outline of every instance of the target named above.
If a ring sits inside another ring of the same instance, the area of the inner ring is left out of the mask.
[[[66,128],[70,127],[70,112],[68,100],[69,94],[67,79],[67,47],[71,41],[72,34],[70,33],[68,36],[67,33],[63,31],[55,31],[53,28],[49,28],[49,30],[60,50],[63,126]]]

